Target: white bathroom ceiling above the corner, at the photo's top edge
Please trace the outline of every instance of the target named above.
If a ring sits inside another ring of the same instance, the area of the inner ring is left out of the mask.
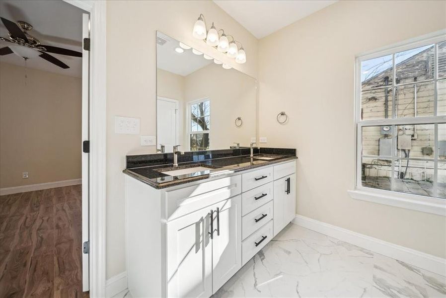
[[[214,2],[260,39],[337,0],[214,0]]]

